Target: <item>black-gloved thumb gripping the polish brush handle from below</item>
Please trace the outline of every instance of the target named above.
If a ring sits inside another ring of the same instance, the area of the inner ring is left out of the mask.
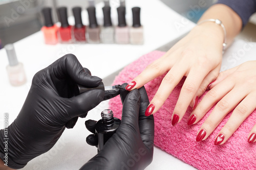
[[[102,89],[93,89],[70,98],[70,104],[67,106],[69,116],[80,116],[95,108],[103,100],[104,94]]]

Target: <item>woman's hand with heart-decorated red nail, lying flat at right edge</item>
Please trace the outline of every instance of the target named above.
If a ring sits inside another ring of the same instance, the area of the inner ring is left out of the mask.
[[[256,61],[248,61],[237,67],[223,71],[210,86],[198,107],[189,119],[196,124],[216,103],[209,117],[199,130],[197,141],[205,140],[233,109],[228,122],[215,139],[216,145],[223,144],[239,128],[256,108]],[[256,125],[248,136],[248,142],[256,139]]]

